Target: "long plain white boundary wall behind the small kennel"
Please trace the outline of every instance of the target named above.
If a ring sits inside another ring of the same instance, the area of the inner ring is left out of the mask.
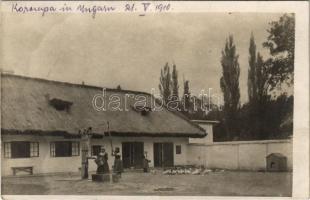
[[[292,170],[291,140],[262,140],[214,142],[211,144],[189,144],[188,164],[204,165],[207,168],[232,170],[264,170],[266,156],[281,153],[287,157],[288,170]]]

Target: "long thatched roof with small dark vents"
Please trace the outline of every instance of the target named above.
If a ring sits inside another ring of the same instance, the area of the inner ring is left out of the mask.
[[[112,111],[108,106],[106,111],[96,111],[92,100],[102,94],[100,87],[5,74],[1,76],[1,90],[3,133],[76,135],[79,130],[92,127],[94,134],[103,135],[109,121],[110,133],[115,136],[206,135],[198,125],[167,109],[142,114],[135,109],[133,98],[124,103],[126,95],[142,95],[152,107],[153,98],[147,93],[106,89],[105,99],[119,96],[121,108],[126,106],[128,111]]]

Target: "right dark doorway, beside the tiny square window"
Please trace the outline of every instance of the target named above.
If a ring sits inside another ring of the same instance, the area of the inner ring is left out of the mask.
[[[154,143],[154,166],[173,167],[173,143]]]

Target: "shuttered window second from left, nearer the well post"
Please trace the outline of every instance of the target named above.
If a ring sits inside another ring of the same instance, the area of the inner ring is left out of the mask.
[[[51,157],[71,157],[80,155],[80,143],[71,141],[51,142]]]

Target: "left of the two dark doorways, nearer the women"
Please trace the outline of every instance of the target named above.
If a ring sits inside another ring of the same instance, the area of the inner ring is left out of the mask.
[[[122,143],[122,157],[123,167],[135,169],[142,168],[143,163],[143,142],[123,142]]]

